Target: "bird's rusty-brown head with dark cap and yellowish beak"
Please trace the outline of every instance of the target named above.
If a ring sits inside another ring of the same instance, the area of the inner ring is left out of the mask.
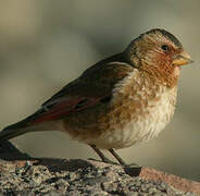
[[[130,42],[125,53],[134,66],[168,87],[176,85],[179,66],[192,62],[180,41],[159,28],[141,34]]]

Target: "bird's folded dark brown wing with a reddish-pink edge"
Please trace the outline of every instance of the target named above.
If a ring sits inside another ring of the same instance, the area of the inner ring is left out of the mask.
[[[47,100],[38,112],[28,118],[28,124],[58,120],[110,100],[114,85],[133,70],[133,66],[122,62],[91,66]]]

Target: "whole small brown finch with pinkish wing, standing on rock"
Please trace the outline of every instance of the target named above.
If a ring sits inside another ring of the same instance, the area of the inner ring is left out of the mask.
[[[180,66],[190,56],[170,32],[153,28],[122,52],[88,68],[39,110],[0,132],[0,143],[25,133],[61,131],[89,145],[103,162],[155,138],[174,115]]]

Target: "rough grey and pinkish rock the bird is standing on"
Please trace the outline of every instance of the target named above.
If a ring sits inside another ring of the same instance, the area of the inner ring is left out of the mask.
[[[200,183],[149,168],[95,160],[32,158],[0,145],[0,195],[200,195]]]

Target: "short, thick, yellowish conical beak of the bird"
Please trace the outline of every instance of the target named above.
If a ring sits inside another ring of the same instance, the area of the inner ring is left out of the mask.
[[[176,56],[173,60],[173,64],[177,65],[177,66],[182,66],[184,64],[189,64],[192,63],[193,61],[191,60],[190,56],[183,51],[182,53],[179,53],[178,56]]]

